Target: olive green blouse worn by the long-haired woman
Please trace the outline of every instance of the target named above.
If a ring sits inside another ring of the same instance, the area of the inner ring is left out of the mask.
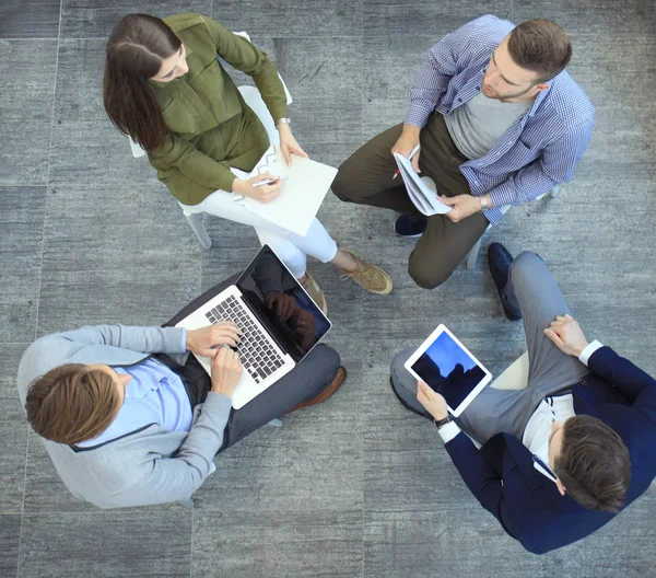
[[[171,132],[149,159],[178,200],[196,205],[213,190],[231,190],[230,167],[250,171],[269,144],[216,55],[253,78],[273,119],[288,115],[286,99],[276,65],[248,41],[200,14],[164,22],[183,41],[189,71],[171,82],[151,81]]]

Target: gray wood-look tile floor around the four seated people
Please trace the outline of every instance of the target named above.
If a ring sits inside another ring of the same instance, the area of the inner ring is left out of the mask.
[[[512,210],[485,241],[539,251],[590,337],[656,372],[651,0],[31,0],[0,8],[0,575],[2,576],[653,576],[656,493],[587,540],[538,557],[467,492],[426,421],[387,384],[391,356],[449,325],[494,373],[524,348],[480,258],[435,291],[406,274],[412,243],[393,216],[328,198],[320,217],[384,265],[396,289],[364,294],[313,263],[350,375],[320,407],[265,428],[218,460],[194,511],[99,511],[72,498],[15,394],[36,336],[82,323],[159,324],[243,267],[243,227],[208,220],[204,252],[148,163],[105,118],[104,36],[127,12],[196,10],[248,31],[295,97],[295,134],[339,164],[400,122],[423,55],[485,12],[557,20],[570,70],[597,106],[591,146],[554,200]],[[242,77],[239,77],[242,78]],[[485,244],[487,244],[485,242]]]

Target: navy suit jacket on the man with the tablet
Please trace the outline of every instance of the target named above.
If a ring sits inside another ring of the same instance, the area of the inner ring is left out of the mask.
[[[610,347],[588,360],[590,373],[573,389],[576,414],[598,417],[614,429],[631,455],[626,506],[656,476],[656,380]],[[464,434],[446,449],[462,479],[505,531],[535,554],[572,544],[616,515],[585,509],[534,466],[520,440],[497,434],[478,450]]]

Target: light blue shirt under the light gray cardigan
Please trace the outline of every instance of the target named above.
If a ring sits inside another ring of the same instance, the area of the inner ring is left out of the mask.
[[[192,409],[179,375],[153,358],[113,369],[132,377],[126,389],[124,404],[105,431],[92,440],[78,443],[78,447],[106,443],[151,424],[169,431],[189,431]]]

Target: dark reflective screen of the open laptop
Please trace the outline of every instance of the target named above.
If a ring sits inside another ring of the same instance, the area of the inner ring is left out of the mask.
[[[236,286],[271,336],[296,362],[330,328],[326,315],[269,245],[261,248]]]

